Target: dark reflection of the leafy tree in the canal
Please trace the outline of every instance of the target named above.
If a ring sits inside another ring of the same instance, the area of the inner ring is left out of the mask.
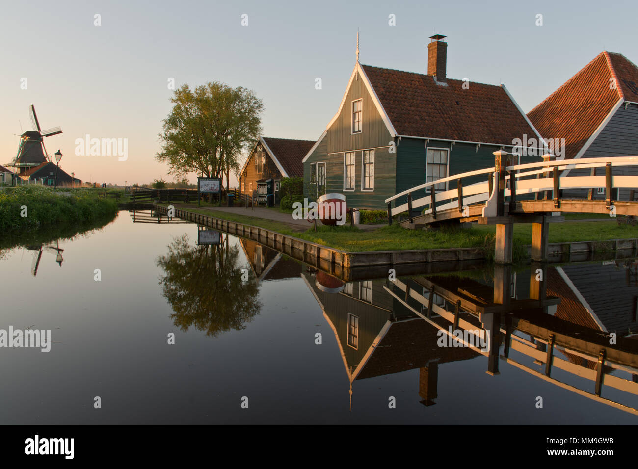
[[[258,288],[242,281],[238,261],[239,248],[228,246],[228,237],[219,246],[191,246],[188,235],[173,240],[157,265],[165,272],[159,284],[177,327],[186,331],[193,325],[216,336],[253,320],[261,308]]]

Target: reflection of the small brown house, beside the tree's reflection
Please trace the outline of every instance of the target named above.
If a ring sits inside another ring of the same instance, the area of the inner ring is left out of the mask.
[[[299,277],[299,262],[255,241],[240,238],[239,242],[258,281]]]

